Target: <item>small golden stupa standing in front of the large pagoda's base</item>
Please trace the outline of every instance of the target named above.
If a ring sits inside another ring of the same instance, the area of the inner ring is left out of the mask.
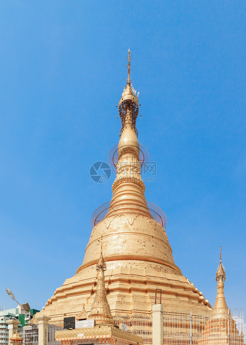
[[[102,252],[102,235],[101,254],[96,265],[96,270],[98,271],[98,283],[96,287],[94,302],[91,306],[91,312],[88,316],[88,319],[95,319],[97,325],[114,325],[114,319],[110,311],[109,303],[107,302],[105,290],[104,271],[106,270],[106,264]]]

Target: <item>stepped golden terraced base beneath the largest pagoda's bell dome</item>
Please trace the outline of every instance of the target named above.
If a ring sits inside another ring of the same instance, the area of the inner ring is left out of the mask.
[[[51,317],[52,324],[63,323],[64,316],[78,317],[82,311],[84,315],[80,318],[86,318],[96,292],[98,272],[95,268],[96,265],[86,267],[66,279],[48,300],[44,312],[40,313]],[[145,261],[119,260],[107,262],[104,274],[107,300],[113,316],[151,313],[156,288],[162,289],[164,312],[212,309],[203,294],[171,267]],[[157,302],[158,298],[160,295]]]

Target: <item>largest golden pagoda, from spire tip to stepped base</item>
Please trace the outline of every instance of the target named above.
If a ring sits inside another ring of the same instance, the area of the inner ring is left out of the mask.
[[[93,229],[81,266],[46,303],[44,313],[51,317],[51,323],[63,322],[64,315],[78,316],[81,311],[86,315],[94,310],[103,275],[113,316],[151,313],[157,288],[162,289],[164,311],[212,309],[175,265],[165,214],[145,199],[141,171],[148,154],[137,139],[140,105],[130,78],[130,50],[127,60],[127,83],[119,101],[120,141],[109,155],[109,164],[116,171],[112,200],[93,214]],[[101,235],[105,271],[104,266],[98,270],[96,262]]]

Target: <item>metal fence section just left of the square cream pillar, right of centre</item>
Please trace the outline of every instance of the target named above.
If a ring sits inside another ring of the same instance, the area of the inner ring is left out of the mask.
[[[126,331],[139,335],[145,345],[152,344],[152,314],[114,316],[116,325],[123,323]]]

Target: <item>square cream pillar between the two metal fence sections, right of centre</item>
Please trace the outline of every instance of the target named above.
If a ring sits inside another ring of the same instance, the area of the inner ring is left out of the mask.
[[[163,345],[163,305],[152,306],[152,345]]]

